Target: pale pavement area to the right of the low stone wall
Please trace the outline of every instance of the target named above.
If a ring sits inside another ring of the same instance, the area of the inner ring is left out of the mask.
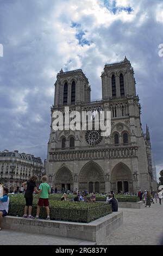
[[[163,204],[123,211],[123,224],[101,245],[158,245],[163,237]]]

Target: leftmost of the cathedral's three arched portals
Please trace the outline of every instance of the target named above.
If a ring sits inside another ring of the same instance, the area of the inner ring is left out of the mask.
[[[73,176],[71,171],[67,167],[61,167],[54,179],[55,187],[58,191],[73,191]]]

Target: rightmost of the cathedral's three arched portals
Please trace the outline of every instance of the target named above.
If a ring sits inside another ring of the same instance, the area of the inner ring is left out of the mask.
[[[118,163],[111,172],[111,190],[117,193],[133,192],[133,176],[124,163]]]

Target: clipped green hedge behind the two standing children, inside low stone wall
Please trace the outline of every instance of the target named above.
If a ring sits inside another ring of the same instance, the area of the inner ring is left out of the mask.
[[[50,197],[51,198],[51,197]],[[34,196],[32,214],[36,215],[37,196]],[[23,216],[25,199],[22,195],[10,196],[9,212],[11,216]],[[85,202],[61,202],[49,199],[49,209],[51,220],[73,221],[89,223],[111,214],[111,205],[105,203],[85,203]],[[41,208],[40,218],[46,218],[46,210]]]

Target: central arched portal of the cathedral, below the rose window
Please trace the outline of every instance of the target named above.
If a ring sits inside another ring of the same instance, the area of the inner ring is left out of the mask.
[[[104,173],[95,162],[86,163],[79,174],[79,191],[105,192]]]

